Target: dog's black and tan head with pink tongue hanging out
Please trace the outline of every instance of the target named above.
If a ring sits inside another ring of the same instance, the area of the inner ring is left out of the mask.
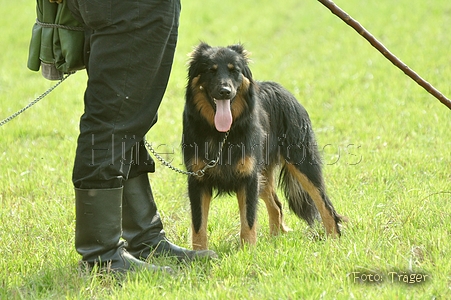
[[[211,47],[201,43],[190,54],[188,88],[199,111],[218,131],[228,131],[248,108],[244,93],[253,84],[248,63],[249,53],[240,44]]]

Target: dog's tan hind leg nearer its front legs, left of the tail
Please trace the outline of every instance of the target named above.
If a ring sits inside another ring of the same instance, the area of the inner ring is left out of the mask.
[[[282,231],[286,233],[292,231],[283,220],[282,203],[276,194],[276,188],[274,184],[274,169],[268,168],[263,171],[263,177],[265,182],[263,183],[263,190],[260,192],[260,197],[266,204],[269,217],[269,232],[271,235],[276,236]]]

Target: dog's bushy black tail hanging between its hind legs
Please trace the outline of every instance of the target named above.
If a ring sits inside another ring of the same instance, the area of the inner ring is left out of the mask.
[[[309,225],[313,225],[315,220],[321,221],[320,214],[312,198],[303,189],[299,180],[290,173],[286,165],[280,171],[279,184],[284,191],[290,209],[299,218],[304,219]]]

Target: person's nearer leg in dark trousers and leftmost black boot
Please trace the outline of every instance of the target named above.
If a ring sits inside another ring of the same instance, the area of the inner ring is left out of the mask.
[[[120,242],[122,186],[137,163],[133,149],[154,123],[166,89],[180,5],[178,0],[70,3],[92,29],[73,169],[75,245],[89,265],[129,269],[145,263]],[[143,162],[138,169],[153,167]]]

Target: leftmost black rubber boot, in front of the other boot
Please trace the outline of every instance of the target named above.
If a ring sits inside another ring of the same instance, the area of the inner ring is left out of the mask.
[[[120,240],[122,188],[75,189],[75,248],[82,264],[100,271],[125,272],[136,269],[172,272],[169,267],[157,267],[130,255],[126,243]]]

